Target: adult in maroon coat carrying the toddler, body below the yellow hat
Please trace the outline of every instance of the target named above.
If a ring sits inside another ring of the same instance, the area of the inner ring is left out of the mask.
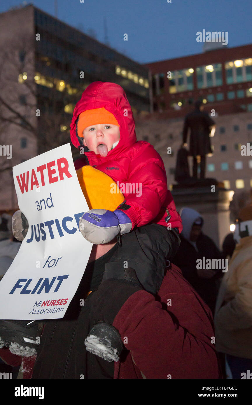
[[[134,243],[143,247],[138,274],[144,271],[145,260],[156,252],[155,232],[159,228],[157,224],[148,224],[122,237],[122,244],[132,254]],[[152,237],[150,232],[154,232]],[[161,287],[154,295],[143,290],[134,269],[130,269],[131,262],[117,262],[115,268],[113,257],[120,249],[116,239],[93,245],[89,263],[64,318],[45,323],[36,361],[23,358],[23,377],[219,378],[211,311],[180,269],[167,263]],[[124,268],[123,279],[118,278],[121,273],[118,266]],[[85,341],[98,322],[106,322],[117,330],[122,347],[119,360],[107,361],[88,352]],[[9,349],[0,349],[2,358],[7,356],[6,352]]]

